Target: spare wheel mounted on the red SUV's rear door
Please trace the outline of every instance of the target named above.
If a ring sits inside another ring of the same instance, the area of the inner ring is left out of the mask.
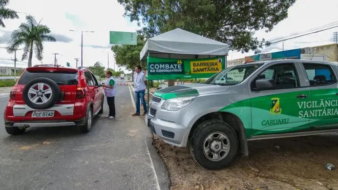
[[[27,83],[23,91],[25,103],[32,109],[52,108],[60,98],[60,88],[49,78],[35,78]]]

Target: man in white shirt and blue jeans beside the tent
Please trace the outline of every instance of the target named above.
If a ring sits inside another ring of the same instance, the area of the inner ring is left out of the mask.
[[[136,113],[132,116],[139,116],[140,115],[140,99],[143,104],[144,112],[142,115],[147,113],[146,103],[144,99],[145,88],[147,85],[146,76],[142,71],[141,66],[135,67],[136,74],[134,75],[134,86],[135,86],[135,103],[136,103]]]

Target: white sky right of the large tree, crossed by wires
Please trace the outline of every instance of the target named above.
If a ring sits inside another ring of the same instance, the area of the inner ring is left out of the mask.
[[[329,23],[338,22],[338,17],[336,16],[337,7],[338,1],[336,0],[297,0],[295,4],[290,7],[288,17],[276,25],[271,32],[266,33],[265,31],[257,31],[255,36],[259,39],[265,38],[266,40],[269,40],[276,37],[287,36],[291,33],[307,31]],[[335,31],[338,31],[338,27],[286,40],[284,41],[284,50],[333,44],[331,36]],[[263,50],[262,52],[276,52],[281,51],[282,49],[283,43],[281,42],[278,44],[272,44],[271,47],[266,48],[268,51]],[[240,52],[229,53],[228,59],[238,59],[250,55],[254,55],[254,52],[244,54]]]

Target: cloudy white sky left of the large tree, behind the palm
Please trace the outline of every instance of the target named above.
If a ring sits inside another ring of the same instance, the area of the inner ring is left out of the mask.
[[[20,23],[25,22],[25,16],[31,14],[35,16],[37,22],[41,19],[41,24],[47,25],[52,35],[62,38],[61,41],[69,41],[70,43],[45,43],[44,46],[44,64],[54,63],[54,55],[57,55],[58,64],[66,66],[66,62],[70,62],[71,67],[75,67],[74,58],[81,57],[81,33],[71,32],[77,31],[95,31],[95,33],[83,33],[83,66],[92,66],[100,60],[105,67],[108,67],[107,52],[110,51],[109,31],[128,31],[134,32],[139,27],[135,22],[130,23],[127,18],[123,17],[124,9],[117,1],[113,0],[97,0],[80,1],[80,0],[59,0],[57,2],[44,0],[11,0],[8,6],[19,13],[20,19],[5,20],[6,28],[2,30],[13,31],[18,28]],[[0,31],[0,37],[5,32]],[[67,40],[68,39],[68,40]],[[0,44],[5,47],[6,44]],[[93,47],[107,48],[93,48]],[[22,51],[17,51],[20,58]],[[109,52],[109,65],[113,67],[113,52]],[[0,58],[10,58],[14,55],[7,54],[6,50],[0,48]],[[1,60],[3,61],[3,60]],[[26,60],[27,61],[27,60]],[[78,62],[80,65],[81,61]],[[40,64],[35,57],[33,65]],[[14,65],[14,64],[13,64]],[[27,67],[27,66],[26,66]]]

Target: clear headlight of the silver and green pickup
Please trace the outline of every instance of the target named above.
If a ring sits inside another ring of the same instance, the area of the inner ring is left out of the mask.
[[[186,96],[179,98],[172,98],[165,100],[162,104],[163,110],[178,111],[192,103],[196,99],[196,96]]]

